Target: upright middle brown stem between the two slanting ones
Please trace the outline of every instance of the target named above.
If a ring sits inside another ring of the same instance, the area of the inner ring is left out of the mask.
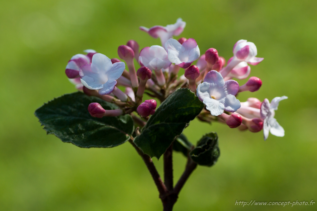
[[[164,183],[169,191],[173,190],[173,143],[164,153]]]

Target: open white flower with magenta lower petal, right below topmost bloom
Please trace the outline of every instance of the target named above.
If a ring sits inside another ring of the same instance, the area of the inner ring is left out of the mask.
[[[169,39],[165,43],[165,49],[168,52],[168,59],[184,69],[191,66],[191,63],[200,56],[197,42],[193,38],[189,38],[183,44],[175,39]]]

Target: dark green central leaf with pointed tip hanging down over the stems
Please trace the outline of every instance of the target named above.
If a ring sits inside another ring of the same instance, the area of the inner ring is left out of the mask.
[[[151,157],[161,157],[187,123],[204,108],[189,89],[178,89],[162,102],[142,129],[134,143]]]

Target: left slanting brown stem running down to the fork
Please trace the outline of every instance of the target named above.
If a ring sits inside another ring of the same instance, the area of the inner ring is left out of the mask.
[[[146,164],[147,169],[149,169],[149,171],[152,175],[152,178],[155,182],[156,187],[159,190],[160,197],[162,197],[163,195],[165,195],[167,193],[167,189],[166,189],[166,186],[165,186],[164,182],[162,181],[161,177],[159,176],[159,172],[156,170],[151,157],[148,156],[147,154],[144,154],[139,149],[139,147],[134,144],[134,142],[131,139],[129,140],[129,142],[132,144],[132,146],[135,148],[135,150],[137,150],[139,155],[142,157],[144,163]]]

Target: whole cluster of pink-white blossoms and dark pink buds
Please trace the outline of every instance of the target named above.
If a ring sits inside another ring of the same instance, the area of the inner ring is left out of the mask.
[[[174,35],[183,32],[185,25],[179,18],[175,24],[166,27],[140,27],[152,37],[160,38],[162,46],[153,45],[139,51],[139,44],[130,40],[118,47],[118,56],[125,62],[118,58],[109,59],[91,49],[84,51],[87,55],[74,55],[68,61],[65,73],[76,88],[120,107],[105,110],[100,104],[91,103],[89,113],[97,118],[131,114],[139,122],[147,121],[148,116],[155,112],[156,100],[142,103],[144,93],[162,102],[179,87],[187,87],[205,104],[198,119],[219,121],[239,130],[259,132],[263,129],[265,140],[269,131],[275,136],[284,136],[284,130],[274,115],[279,101],[287,99],[286,96],[276,97],[271,103],[268,99],[261,102],[249,98],[247,102],[240,102],[236,98],[237,93],[255,92],[262,86],[257,77],[250,77],[242,86],[232,80],[248,78],[251,72],[249,64],[257,65],[263,61],[263,58],[256,57],[256,45],[239,40],[233,47],[233,57],[225,65],[226,60],[215,48],[200,55],[195,39],[173,39]],[[196,60],[196,65],[192,65]],[[135,63],[140,65],[137,71]],[[185,73],[178,77],[180,68]],[[137,112],[139,117],[133,112]]]

